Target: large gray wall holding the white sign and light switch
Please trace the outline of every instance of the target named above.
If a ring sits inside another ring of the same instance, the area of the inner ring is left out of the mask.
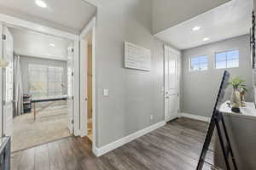
[[[124,41],[152,50],[152,71],[124,68]],[[96,147],[163,121],[163,43],[151,34],[151,3],[122,0],[98,8],[96,49]]]

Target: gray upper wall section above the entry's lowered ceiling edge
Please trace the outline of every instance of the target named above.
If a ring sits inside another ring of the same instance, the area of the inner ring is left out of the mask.
[[[152,0],[152,27],[156,34],[230,0]]]

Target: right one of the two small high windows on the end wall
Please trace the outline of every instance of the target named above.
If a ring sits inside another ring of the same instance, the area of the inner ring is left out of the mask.
[[[239,67],[239,50],[230,50],[215,54],[215,68]]]

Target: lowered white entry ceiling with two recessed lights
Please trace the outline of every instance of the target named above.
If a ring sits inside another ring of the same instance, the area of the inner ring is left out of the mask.
[[[232,0],[155,36],[179,49],[238,37],[250,32],[252,10],[253,0]],[[195,26],[201,29],[193,31]],[[203,41],[206,37],[209,40]]]

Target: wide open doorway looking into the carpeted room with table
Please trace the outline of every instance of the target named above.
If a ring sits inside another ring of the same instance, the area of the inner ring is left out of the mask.
[[[4,114],[9,116],[5,134],[12,136],[12,152],[71,136],[73,41],[15,26],[3,28],[12,63],[6,71],[6,96],[13,95],[14,111]]]

